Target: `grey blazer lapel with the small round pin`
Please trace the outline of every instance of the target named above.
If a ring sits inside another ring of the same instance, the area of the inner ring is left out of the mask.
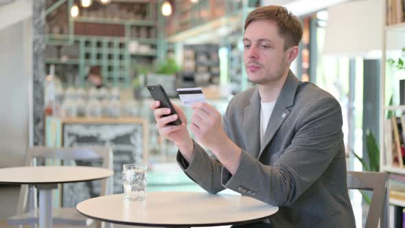
[[[298,78],[294,76],[292,71],[290,71],[286,78],[286,82],[284,83],[283,89],[281,89],[279,98],[277,98],[277,102],[273,109],[273,113],[271,113],[270,120],[268,121],[266,133],[264,133],[262,145],[260,147],[259,157],[262,155],[264,149],[270,143],[271,139],[273,139],[281,124],[283,124],[284,120],[286,120],[288,115],[290,115],[290,110],[288,108],[294,104],[295,92],[297,91],[298,84]]]

